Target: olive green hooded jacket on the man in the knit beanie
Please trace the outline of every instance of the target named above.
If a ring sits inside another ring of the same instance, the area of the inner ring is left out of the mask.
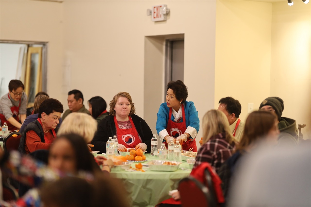
[[[298,145],[298,129],[294,119],[281,117],[278,126],[280,130],[278,145]]]

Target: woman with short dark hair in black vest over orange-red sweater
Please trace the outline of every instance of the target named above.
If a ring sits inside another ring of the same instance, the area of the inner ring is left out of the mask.
[[[46,99],[39,107],[38,119],[30,122],[24,129],[18,151],[29,154],[35,150],[48,150],[56,138],[56,127],[63,104],[57,99]]]

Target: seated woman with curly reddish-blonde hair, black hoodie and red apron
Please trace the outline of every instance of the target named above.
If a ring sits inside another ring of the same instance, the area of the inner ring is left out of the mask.
[[[150,153],[152,132],[148,124],[135,114],[132,97],[127,92],[120,92],[110,101],[109,116],[99,124],[92,140],[94,150],[106,152],[109,137],[117,136],[118,150],[126,148],[146,150]]]

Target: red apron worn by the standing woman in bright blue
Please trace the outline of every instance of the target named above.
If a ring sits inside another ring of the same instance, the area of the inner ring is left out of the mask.
[[[171,120],[172,118],[172,108],[169,108],[169,121],[167,122],[167,128],[166,131],[167,133],[169,133],[169,136],[177,138],[180,135],[182,135],[183,133],[185,133],[187,127],[186,127],[186,118],[185,118],[185,109],[183,104],[182,106],[182,113],[183,113],[183,122],[173,122]],[[167,148],[167,143],[165,142],[165,146]],[[189,150],[190,148],[193,148],[193,152],[197,152],[197,144],[195,141],[195,138],[193,139],[193,141],[191,139],[188,139],[186,141],[183,142],[183,150]]]

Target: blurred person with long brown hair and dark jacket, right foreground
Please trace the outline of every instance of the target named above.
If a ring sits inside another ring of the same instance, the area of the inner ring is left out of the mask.
[[[254,111],[250,113],[245,122],[244,133],[236,152],[220,167],[218,174],[222,180],[222,190],[225,199],[230,187],[231,179],[242,157],[247,156],[258,146],[271,148],[277,144],[279,135],[277,119],[269,112]]]

